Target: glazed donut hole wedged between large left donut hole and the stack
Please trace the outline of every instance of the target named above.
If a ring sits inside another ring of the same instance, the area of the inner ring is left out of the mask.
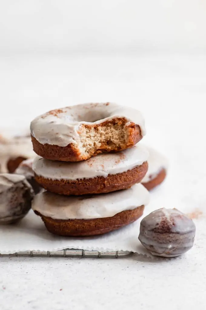
[[[15,174],[24,175],[29,184],[32,186],[34,193],[37,194],[42,189],[34,179],[34,171],[32,169],[34,158],[29,158],[20,163],[15,170]]]

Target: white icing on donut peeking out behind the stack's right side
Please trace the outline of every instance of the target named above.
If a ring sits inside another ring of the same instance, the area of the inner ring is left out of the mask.
[[[141,144],[144,145],[144,144]],[[142,179],[141,183],[148,183],[149,181],[155,179],[157,175],[160,173],[162,169],[165,169],[167,171],[168,169],[168,160],[167,158],[156,151],[155,149],[144,145],[148,152],[148,171],[144,178]]]

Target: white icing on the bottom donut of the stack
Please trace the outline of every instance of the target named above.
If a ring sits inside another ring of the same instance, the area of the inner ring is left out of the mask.
[[[35,196],[32,209],[52,219],[98,219],[145,206],[148,201],[148,190],[142,184],[135,184],[118,192],[81,197],[45,191]]]

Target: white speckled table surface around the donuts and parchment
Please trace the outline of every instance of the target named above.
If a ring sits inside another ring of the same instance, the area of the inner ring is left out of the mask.
[[[169,157],[168,179],[177,175],[164,206],[171,200],[177,208],[206,205],[206,57],[7,56],[0,68],[0,127],[27,126],[39,113],[68,104],[136,106],[147,121],[144,141]],[[192,180],[190,193],[178,169]],[[176,259],[0,257],[1,309],[205,309],[202,236],[197,232],[195,247]]]

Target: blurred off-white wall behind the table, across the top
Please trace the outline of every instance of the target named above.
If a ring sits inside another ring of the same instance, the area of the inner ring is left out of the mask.
[[[205,0],[1,1],[0,49],[205,52]]]

